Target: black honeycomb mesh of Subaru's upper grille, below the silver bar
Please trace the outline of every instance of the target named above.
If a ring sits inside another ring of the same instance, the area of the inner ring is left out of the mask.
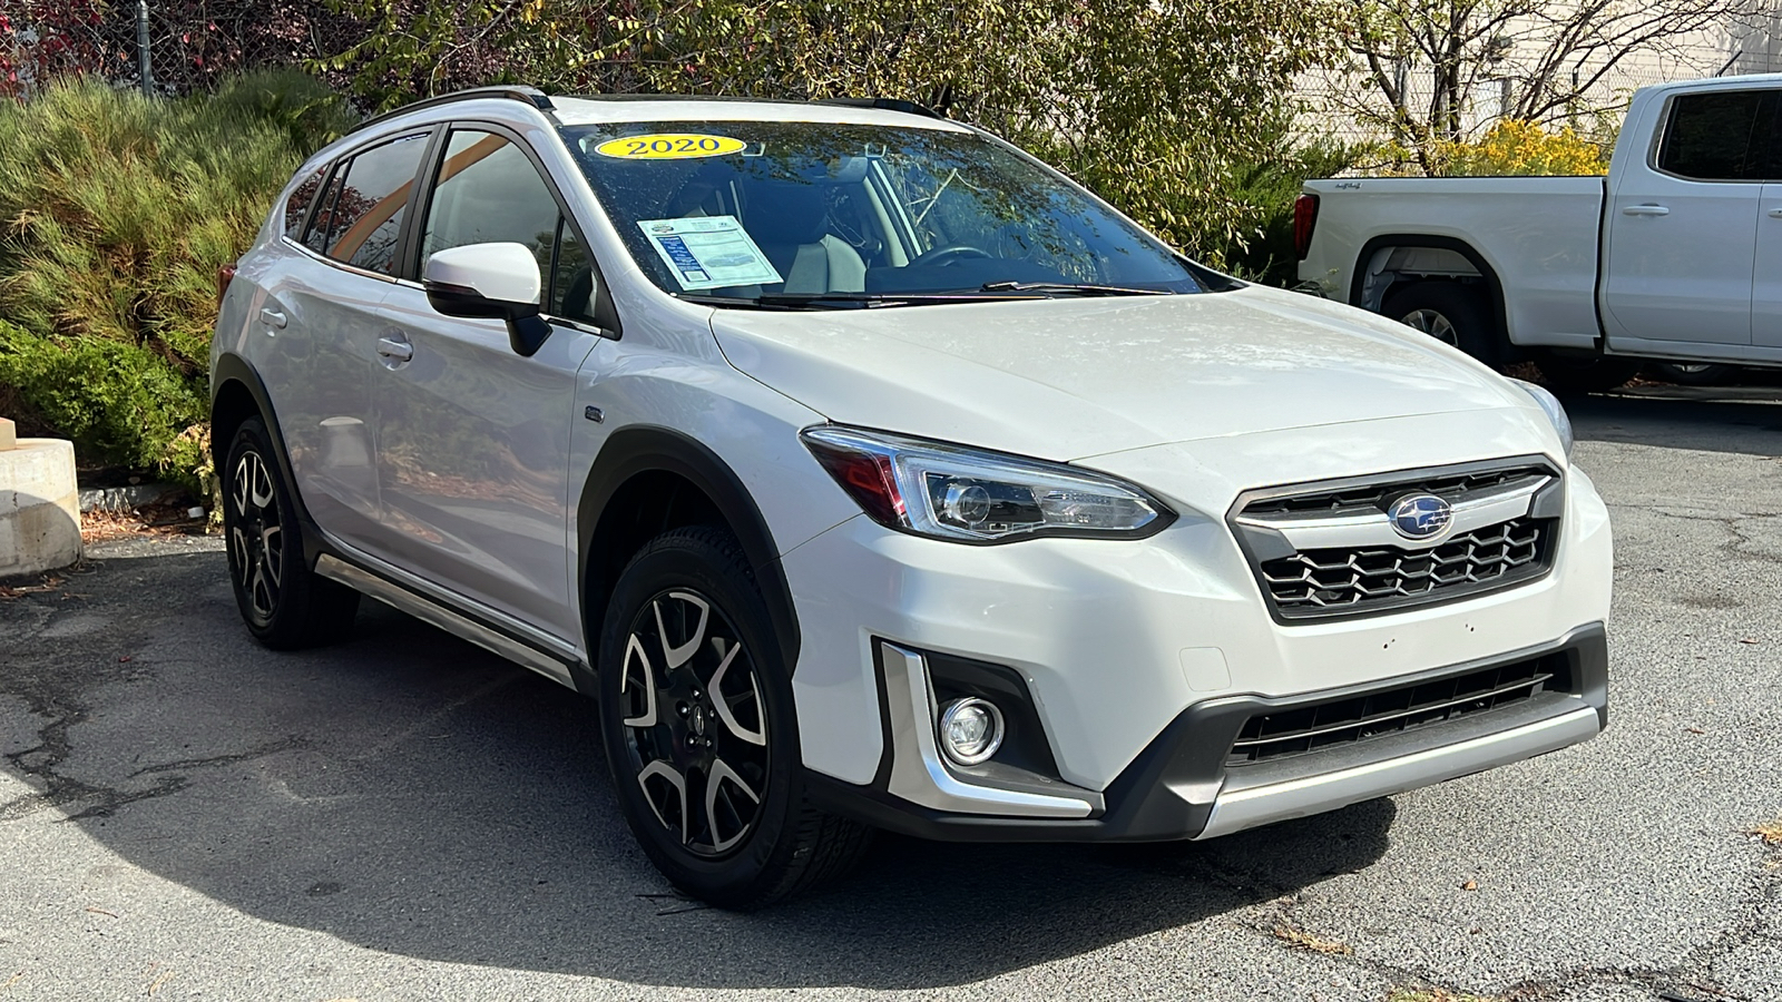
[[[1262,565],[1283,615],[1319,615],[1406,599],[1443,597],[1538,578],[1547,571],[1549,519],[1511,519],[1435,549],[1306,549]]]

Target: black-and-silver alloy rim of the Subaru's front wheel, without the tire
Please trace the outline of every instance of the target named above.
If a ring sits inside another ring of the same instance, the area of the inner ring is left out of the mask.
[[[711,599],[658,594],[631,622],[618,679],[631,770],[672,842],[729,856],[761,815],[766,706],[754,658]]]

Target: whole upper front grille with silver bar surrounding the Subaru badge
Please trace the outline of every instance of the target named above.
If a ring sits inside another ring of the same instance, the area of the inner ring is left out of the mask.
[[[1452,535],[1433,546],[1397,535],[1386,512],[1411,494],[1447,501]],[[1329,620],[1545,576],[1559,540],[1561,499],[1554,469],[1504,460],[1258,490],[1233,506],[1231,528],[1276,619]]]

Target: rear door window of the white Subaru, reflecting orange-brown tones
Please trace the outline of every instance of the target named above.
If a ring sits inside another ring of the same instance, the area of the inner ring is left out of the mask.
[[[403,210],[426,148],[428,137],[422,132],[372,146],[344,162],[328,184],[331,201],[317,214],[307,242],[317,248],[319,237],[317,250],[328,257],[390,275],[396,266],[396,239],[403,232]]]

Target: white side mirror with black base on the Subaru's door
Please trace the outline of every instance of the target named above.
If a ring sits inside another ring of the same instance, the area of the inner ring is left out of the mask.
[[[538,316],[538,259],[526,244],[442,250],[428,259],[421,283],[428,303],[447,317],[506,321],[515,355],[531,358],[551,337],[551,324]]]

